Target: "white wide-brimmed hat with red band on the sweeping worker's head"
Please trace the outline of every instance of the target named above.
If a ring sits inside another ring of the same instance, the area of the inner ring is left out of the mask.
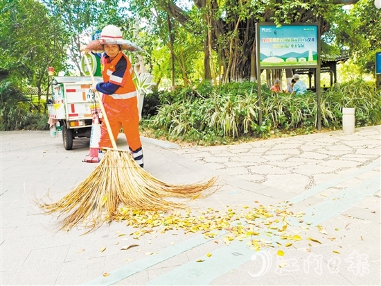
[[[121,46],[122,50],[126,51],[143,51],[141,47],[134,44],[133,42],[124,40],[121,30],[117,26],[108,25],[103,28],[102,32],[100,33],[99,40],[92,40],[89,42],[89,44],[87,44],[85,52],[88,53],[89,51],[105,51],[103,48],[104,44],[118,44]]]

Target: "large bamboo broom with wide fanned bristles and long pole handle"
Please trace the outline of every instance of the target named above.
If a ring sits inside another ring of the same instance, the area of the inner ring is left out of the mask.
[[[86,54],[84,58],[91,71]],[[95,84],[91,72],[90,76]],[[96,94],[113,148],[106,149],[96,169],[69,194],[55,203],[38,203],[46,213],[57,213],[58,218],[64,216],[60,229],[69,230],[82,224],[93,230],[103,221],[118,217],[118,209],[122,206],[163,211],[183,208],[184,201],[168,201],[167,198],[192,200],[209,196],[217,190],[211,188],[215,185],[215,177],[204,183],[174,185],[148,174],[135,162],[130,151],[116,148],[105,107],[98,91]]]

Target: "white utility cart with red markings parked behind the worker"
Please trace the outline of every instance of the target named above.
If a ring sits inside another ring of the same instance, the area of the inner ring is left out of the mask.
[[[95,77],[101,82],[101,77]],[[100,112],[97,96],[90,92],[92,81],[85,76],[54,76],[52,78],[52,102],[48,114],[54,123],[62,126],[64,148],[73,148],[76,137],[91,136],[94,112]]]

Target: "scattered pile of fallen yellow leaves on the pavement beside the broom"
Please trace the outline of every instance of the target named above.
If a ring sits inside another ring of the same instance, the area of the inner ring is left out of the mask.
[[[294,214],[287,210],[290,205],[292,204],[287,204],[287,202],[267,207],[259,205],[258,208],[240,205],[238,210],[227,205],[227,209],[223,212],[213,208],[173,210],[172,212],[120,208],[116,220],[127,221],[127,226],[139,228],[131,234],[134,239],[157,231],[165,233],[168,230],[183,230],[184,233],[203,233],[206,238],[224,235],[222,240],[227,245],[235,239],[238,241],[245,239],[250,249],[259,251],[262,247],[282,246],[282,243],[279,242],[280,239],[285,239],[284,246],[286,247],[291,246],[292,242],[302,240],[300,235],[294,234],[300,232],[287,230],[287,225],[290,225],[290,222],[287,221],[289,218],[297,219],[300,224],[303,223],[303,219],[301,219],[303,213]],[[308,226],[299,226],[308,229]],[[220,234],[220,230],[224,230],[224,232]],[[319,226],[319,230],[324,233],[321,226]],[[277,239],[264,239],[264,235],[267,237],[276,236]],[[307,239],[319,242],[319,240],[311,237],[307,237]],[[281,254],[278,253],[278,255]]]

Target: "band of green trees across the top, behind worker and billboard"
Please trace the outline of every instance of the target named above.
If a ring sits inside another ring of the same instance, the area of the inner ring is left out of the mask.
[[[47,69],[79,71],[80,44],[107,24],[140,26],[139,44],[156,81],[193,85],[256,78],[257,22],[318,23],[327,53],[348,49],[364,72],[381,49],[381,10],[318,0],[1,0],[0,75],[48,85]],[[130,35],[127,33],[126,35]],[[131,36],[132,37],[132,36]],[[136,38],[132,38],[136,40]]]

